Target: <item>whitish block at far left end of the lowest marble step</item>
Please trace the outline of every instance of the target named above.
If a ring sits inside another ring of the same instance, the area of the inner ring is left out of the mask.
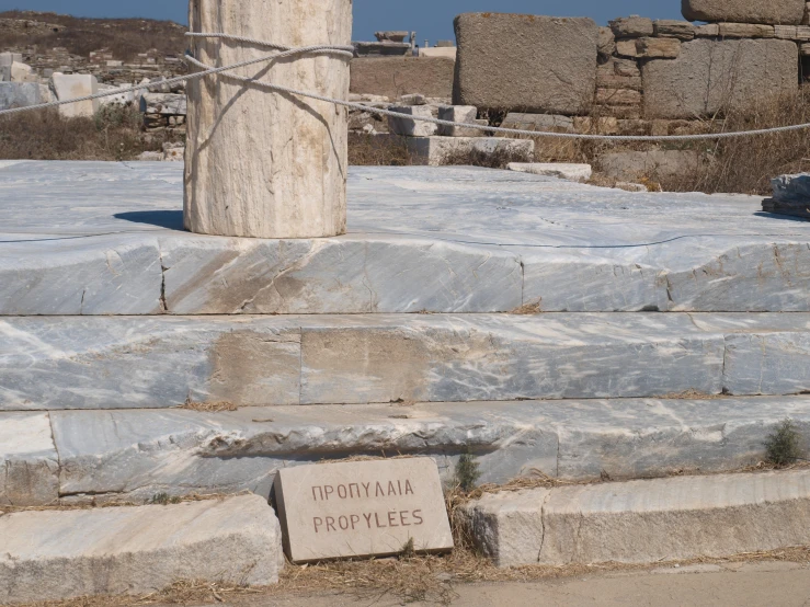
[[[0,506],[59,499],[59,456],[47,413],[0,413]]]

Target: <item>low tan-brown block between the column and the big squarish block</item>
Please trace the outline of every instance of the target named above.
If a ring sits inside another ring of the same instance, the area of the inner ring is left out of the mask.
[[[351,91],[389,99],[408,93],[449,99],[455,65],[446,57],[361,57],[352,60]]]

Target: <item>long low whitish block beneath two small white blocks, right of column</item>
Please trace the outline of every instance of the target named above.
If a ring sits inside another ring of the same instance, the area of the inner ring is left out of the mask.
[[[458,162],[469,154],[499,154],[516,161],[533,157],[535,142],[531,139],[504,137],[413,137],[407,140],[415,164],[441,167]]]

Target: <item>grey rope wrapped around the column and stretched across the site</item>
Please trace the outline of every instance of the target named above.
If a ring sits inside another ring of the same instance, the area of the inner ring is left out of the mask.
[[[313,46],[304,46],[304,47],[289,47],[289,46],[284,46],[279,44],[270,43],[266,41],[259,41],[255,38],[249,38],[244,36],[235,36],[231,34],[224,34],[224,33],[189,32],[185,35],[192,38],[219,38],[219,39],[226,39],[226,41],[231,41],[231,42],[239,42],[243,44],[251,44],[251,45],[260,46],[264,48],[272,48],[276,50],[277,53],[274,53],[272,55],[262,56],[256,59],[239,61],[237,64],[231,64],[231,65],[223,66],[218,68],[208,66],[195,59],[194,57],[186,55],[184,57],[185,60],[190,62],[191,65],[197,68],[201,68],[202,71],[197,71],[195,73],[191,73],[186,76],[178,76],[174,78],[170,78],[168,80],[161,80],[160,82],[150,82],[148,84],[137,84],[134,87],[126,87],[123,89],[113,89],[110,91],[104,91],[101,93],[95,93],[92,95],[85,95],[85,96],[71,99],[71,100],[53,101],[49,103],[28,105],[26,107],[11,107],[8,110],[0,110],[0,116],[4,116],[9,114],[16,114],[20,112],[45,110],[48,107],[58,107],[60,105],[67,105],[69,103],[79,103],[82,101],[93,101],[93,100],[103,99],[106,96],[119,95],[119,94],[130,93],[130,92],[136,92],[136,91],[150,90],[150,89],[155,89],[159,87],[162,88],[162,87],[167,87],[167,85],[171,85],[171,84],[175,84],[180,82],[187,82],[190,80],[197,80],[199,78],[205,78],[206,76],[223,75],[226,78],[230,78],[232,80],[237,80],[246,84],[252,84],[254,87],[265,89],[267,91],[297,95],[297,96],[301,96],[306,99],[312,99],[316,101],[322,101],[326,103],[332,103],[334,105],[349,107],[351,110],[358,110],[361,112],[367,112],[369,114],[376,114],[379,116],[392,116],[395,118],[406,118],[406,119],[415,121],[415,122],[432,123],[432,124],[436,124],[440,126],[472,128],[472,129],[482,130],[486,133],[502,134],[502,135],[522,135],[524,137],[550,137],[550,138],[557,138],[557,139],[579,139],[579,140],[585,140],[585,141],[701,141],[701,140],[715,141],[718,139],[731,139],[735,137],[756,137],[756,136],[762,136],[762,135],[774,135],[777,133],[789,133],[789,131],[803,130],[803,129],[810,128],[810,123],[803,123],[803,124],[798,124],[798,125],[778,126],[778,127],[772,127],[772,128],[760,128],[760,129],[753,129],[753,130],[739,130],[739,131],[729,131],[729,133],[705,133],[705,134],[696,134],[696,135],[665,135],[665,136],[664,135],[662,136],[655,136],[655,135],[589,135],[589,134],[580,134],[580,133],[547,133],[547,131],[528,130],[528,129],[520,129],[520,128],[504,128],[504,127],[498,127],[498,126],[484,126],[484,125],[479,125],[475,123],[458,123],[454,121],[443,121],[440,118],[433,118],[433,117],[427,117],[427,116],[411,116],[409,114],[402,114],[401,112],[384,110],[381,107],[373,107],[370,105],[365,105],[363,103],[332,99],[332,98],[320,95],[320,94],[312,93],[309,91],[300,91],[298,89],[292,89],[289,87],[283,87],[281,84],[273,84],[272,82],[264,82],[262,80],[259,80],[258,78],[248,78],[243,76],[228,73],[229,71],[232,71],[235,69],[239,69],[239,68],[243,68],[243,67],[248,67],[248,66],[252,66],[252,65],[256,65],[261,62],[272,62],[278,59],[283,59],[286,57],[293,57],[296,55],[333,55],[335,57],[343,57],[343,58],[351,59],[354,57],[353,46],[313,45]]]

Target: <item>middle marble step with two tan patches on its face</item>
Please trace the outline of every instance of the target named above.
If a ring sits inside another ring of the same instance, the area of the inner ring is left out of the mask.
[[[0,319],[0,411],[808,390],[801,312]]]

